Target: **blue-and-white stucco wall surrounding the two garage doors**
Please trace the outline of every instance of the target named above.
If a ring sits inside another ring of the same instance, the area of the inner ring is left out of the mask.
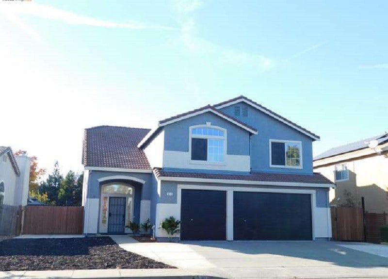
[[[313,222],[314,222],[314,234],[316,238],[330,238],[331,237],[331,220],[330,220],[330,208],[328,203],[328,189],[326,188],[311,188],[311,187],[279,187],[279,186],[258,186],[258,185],[236,185],[236,184],[219,184],[219,183],[198,183],[198,182],[175,182],[175,181],[159,181],[158,193],[156,204],[156,223],[159,224],[162,220],[169,216],[180,218],[180,200],[179,200],[179,187],[191,187],[191,186],[204,186],[215,187],[213,190],[225,190],[231,188],[240,188],[242,191],[245,189],[261,189],[262,191],[307,191],[314,193],[314,206],[313,206]],[[156,226],[156,236],[158,239],[167,237],[165,231],[158,229]],[[228,229],[230,231],[230,228]],[[177,235],[178,237],[179,235]]]

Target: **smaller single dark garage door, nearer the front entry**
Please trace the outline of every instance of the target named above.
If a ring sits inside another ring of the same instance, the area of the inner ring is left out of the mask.
[[[181,240],[226,240],[226,192],[182,189]]]

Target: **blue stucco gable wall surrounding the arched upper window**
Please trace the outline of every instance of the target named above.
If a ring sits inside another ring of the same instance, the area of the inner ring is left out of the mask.
[[[227,154],[249,155],[249,132],[212,113],[204,113],[167,125],[164,128],[164,150],[188,152],[189,127],[206,125],[206,122],[227,130]]]

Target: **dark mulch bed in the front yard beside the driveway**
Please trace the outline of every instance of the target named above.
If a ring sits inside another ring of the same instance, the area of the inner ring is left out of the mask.
[[[0,271],[175,268],[122,249],[110,237],[8,239],[0,242]]]

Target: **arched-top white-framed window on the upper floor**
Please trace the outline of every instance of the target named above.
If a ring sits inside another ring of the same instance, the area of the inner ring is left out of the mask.
[[[192,162],[223,163],[226,154],[226,129],[210,125],[190,127]]]

